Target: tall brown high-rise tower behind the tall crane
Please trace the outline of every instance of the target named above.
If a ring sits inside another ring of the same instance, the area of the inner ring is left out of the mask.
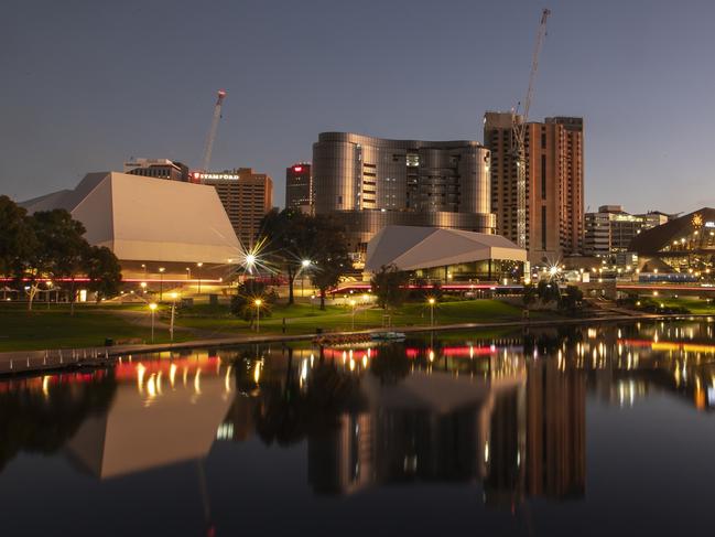
[[[511,112],[485,114],[484,144],[491,150],[491,210],[497,215],[497,233],[517,241],[511,125]],[[573,117],[527,125],[527,249],[532,262],[553,262],[583,248],[583,119]]]

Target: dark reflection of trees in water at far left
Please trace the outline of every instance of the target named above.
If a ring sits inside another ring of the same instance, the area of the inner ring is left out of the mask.
[[[117,383],[105,372],[96,375],[87,383],[52,384],[46,396],[36,386],[0,394],[0,470],[21,451],[56,452],[87,417],[106,414]]]

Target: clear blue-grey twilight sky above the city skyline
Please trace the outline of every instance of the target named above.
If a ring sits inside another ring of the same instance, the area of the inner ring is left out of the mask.
[[[711,0],[4,0],[0,193],[198,165],[218,88],[212,168],[268,172],[277,205],[321,131],[481,141],[522,99],[543,7],[531,118],[585,118],[586,206],[715,206]]]

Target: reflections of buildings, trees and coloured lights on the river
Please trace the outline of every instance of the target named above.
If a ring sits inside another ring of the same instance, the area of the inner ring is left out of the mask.
[[[711,323],[680,322],[126,356],[0,383],[0,470],[55,454],[111,481],[258,439],[304,445],[316,496],[451,483],[512,509],[583,500],[588,397],[630,408],[662,393],[707,410],[711,342]]]

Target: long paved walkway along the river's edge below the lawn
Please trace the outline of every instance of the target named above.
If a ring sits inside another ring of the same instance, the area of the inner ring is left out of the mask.
[[[479,323],[456,323],[440,324],[436,326],[415,325],[415,326],[392,326],[390,329],[370,329],[347,332],[331,332],[331,335],[350,335],[350,334],[372,334],[388,331],[404,333],[413,332],[440,332],[448,330],[479,330],[495,327],[541,327],[555,325],[574,325],[587,323],[613,323],[613,322],[633,322],[648,320],[694,320],[713,318],[708,314],[654,314],[654,313],[636,313],[613,315],[613,316],[593,316],[578,319],[546,319],[546,320],[513,320],[513,321],[495,321]],[[241,335],[231,337],[210,337],[197,339],[181,343],[162,343],[162,344],[136,344],[136,345],[115,345],[108,347],[88,347],[75,350],[48,350],[48,351],[19,351],[10,353],[0,353],[0,375],[13,374],[39,374],[46,370],[56,370],[62,368],[80,367],[80,366],[101,366],[113,363],[117,356],[127,354],[154,353],[160,351],[174,351],[181,348],[194,347],[225,347],[250,343],[274,343],[289,341],[312,341],[317,334],[256,334]]]

